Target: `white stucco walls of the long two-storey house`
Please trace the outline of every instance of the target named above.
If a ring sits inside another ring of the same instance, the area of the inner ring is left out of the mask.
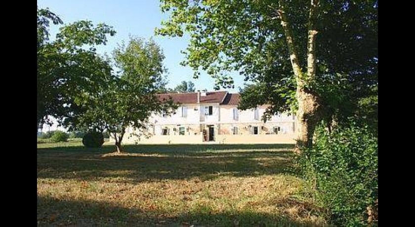
[[[182,117],[183,106],[187,107],[186,117]],[[205,106],[212,106],[212,115],[205,114]],[[261,117],[265,113],[266,107],[267,106],[265,105],[258,107],[258,119],[254,119],[254,109],[245,111],[238,110],[238,119],[234,119],[233,110],[237,108],[236,105],[219,105],[217,103],[182,104],[175,111],[176,113],[170,116],[163,117],[162,115],[153,115],[150,118],[150,123],[152,126],[149,127],[149,132],[154,137],[152,139],[142,140],[140,143],[164,143],[163,141],[167,140],[170,141],[169,143],[183,143],[186,142],[186,137],[189,137],[189,139],[190,137],[199,138],[199,136],[202,135],[203,129],[207,130],[208,132],[207,127],[209,125],[214,127],[215,140],[219,138],[227,138],[217,137],[218,135],[233,135],[233,127],[238,127],[238,135],[252,135],[254,127],[257,127],[258,135],[273,135],[275,134],[274,127],[280,128],[280,131],[277,132],[278,135],[294,135],[295,117],[289,114],[277,114],[272,116],[270,120],[264,123],[261,120]],[[185,128],[184,138],[182,138],[183,135],[179,136],[179,129],[181,127]],[[168,129],[168,136],[162,135],[163,128]],[[292,136],[287,138],[291,137]],[[243,140],[245,137],[238,138],[239,139],[237,140]],[[179,141],[172,141],[174,139]],[[229,141],[236,142],[236,139],[231,137]],[[193,143],[196,142],[196,140],[189,140],[188,142]]]

